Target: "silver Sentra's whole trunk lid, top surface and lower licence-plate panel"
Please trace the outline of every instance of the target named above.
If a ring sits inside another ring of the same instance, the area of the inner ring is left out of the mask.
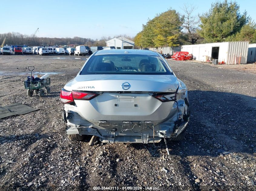
[[[129,83],[123,89],[123,83]],[[78,113],[91,123],[106,121],[121,125],[132,123],[158,124],[176,113],[174,102],[161,102],[153,92],[175,92],[179,82],[175,75],[78,75],[64,88],[68,91],[93,91],[91,100],[75,100]],[[175,112],[172,112],[175,110]]]

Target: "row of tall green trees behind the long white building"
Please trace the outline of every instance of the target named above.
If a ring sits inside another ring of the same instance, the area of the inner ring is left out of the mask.
[[[256,24],[239,8],[237,2],[227,0],[212,3],[209,11],[197,16],[192,5],[184,5],[184,14],[170,8],[142,25],[134,37],[135,45],[143,48],[228,41],[256,43]]]

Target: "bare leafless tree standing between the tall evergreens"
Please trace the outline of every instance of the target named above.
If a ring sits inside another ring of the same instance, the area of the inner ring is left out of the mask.
[[[201,42],[203,38],[201,38],[196,32],[196,30],[199,28],[199,18],[193,14],[196,8],[194,5],[184,4],[183,8],[181,9],[184,11],[184,15],[182,15],[182,27],[185,30],[183,35],[184,40],[191,44]]]

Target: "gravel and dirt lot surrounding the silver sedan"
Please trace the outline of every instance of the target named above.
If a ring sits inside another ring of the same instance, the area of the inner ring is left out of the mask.
[[[163,141],[158,148],[69,141],[59,93],[86,58],[55,58],[0,56],[0,106],[40,108],[0,119],[0,190],[256,190],[255,74],[168,60],[187,85],[192,106],[185,140],[168,142],[168,156]],[[27,97],[26,71],[16,68],[28,65],[35,72],[59,73],[51,76],[51,94]]]

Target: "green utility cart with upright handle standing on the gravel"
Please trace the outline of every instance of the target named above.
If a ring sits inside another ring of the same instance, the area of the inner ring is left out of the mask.
[[[50,78],[35,80],[32,76],[32,71],[35,69],[34,66],[28,66],[26,69],[30,71],[30,77],[27,77],[27,80],[24,81],[25,89],[27,89],[28,97],[32,97],[33,93],[38,94],[39,97],[44,97],[45,92],[49,94],[51,92],[49,85],[51,84]],[[45,88],[45,91],[42,89]]]

